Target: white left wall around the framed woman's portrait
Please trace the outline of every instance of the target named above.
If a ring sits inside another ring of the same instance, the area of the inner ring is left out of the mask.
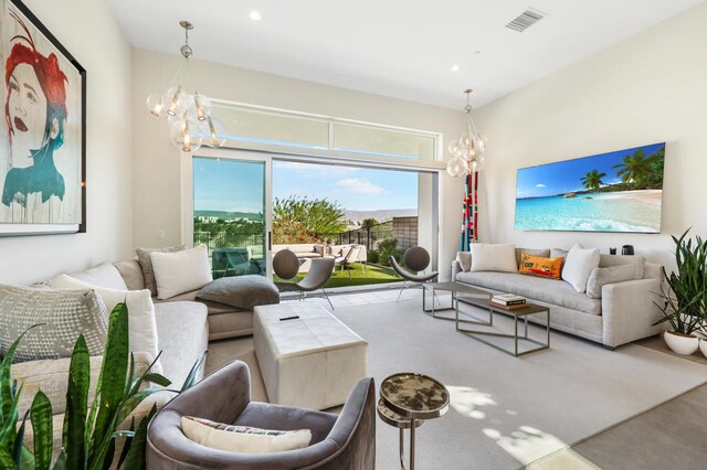
[[[0,238],[0,282],[27,284],[129,256],[130,46],[108,6],[24,0],[87,71],[87,233]]]

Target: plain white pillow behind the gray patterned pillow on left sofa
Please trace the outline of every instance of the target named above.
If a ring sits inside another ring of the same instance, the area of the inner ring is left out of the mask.
[[[157,323],[155,322],[155,305],[148,289],[118,290],[92,286],[67,275],[59,275],[52,279],[52,289],[93,289],[103,299],[106,310],[112,312],[116,305],[125,302],[128,308],[128,344],[130,352],[147,352],[157,357],[159,353],[157,341]],[[162,373],[159,361],[152,366],[152,372]]]

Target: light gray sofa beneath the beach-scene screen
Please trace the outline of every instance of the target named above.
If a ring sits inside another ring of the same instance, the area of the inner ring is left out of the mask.
[[[518,261],[519,253],[517,248]],[[534,255],[550,256],[549,249],[532,249]],[[661,318],[654,302],[658,300],[663,271],[661,265],[645,263],[643,277],[623,282],[606,284],[601,288],[601,298],[593,299],[580,293],[568,282],[520,275],[517,273],[463,270],[457,259],[452,263],[452,280],[468,284],[489,292],[510,292],[526,297],[529,301],[550,308],[551,327],[567,333],[614,349],[643,338],[658,334],[662,327],[653,327]],[[640,256],[601,255],[599,267],[611,267],[631,263],[644,263]],[[541,317],[541,316],[536,316]],[[531,321],[545,322],[532,318]]]

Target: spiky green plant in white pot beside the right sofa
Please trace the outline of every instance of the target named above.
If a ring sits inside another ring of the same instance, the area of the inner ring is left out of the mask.
[[[665,342],[678,354],[697,350],[699,339],[694,333],[707,318],[707,241],[697,236],[693,243],[692,238],[686,239],[688,232],[689,228],[679,238],[673,236],[677,271],[668,276],[663,268],[668,288],[661,287],[663,305],[656,305],[663,318],[654,323],[671,324]]]

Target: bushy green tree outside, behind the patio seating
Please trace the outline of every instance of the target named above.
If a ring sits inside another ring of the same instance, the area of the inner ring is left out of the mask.
[[[306,196],[275,199],[273,234],[275,243],[314,243],[346,229],[344,210],[337,202]]]

